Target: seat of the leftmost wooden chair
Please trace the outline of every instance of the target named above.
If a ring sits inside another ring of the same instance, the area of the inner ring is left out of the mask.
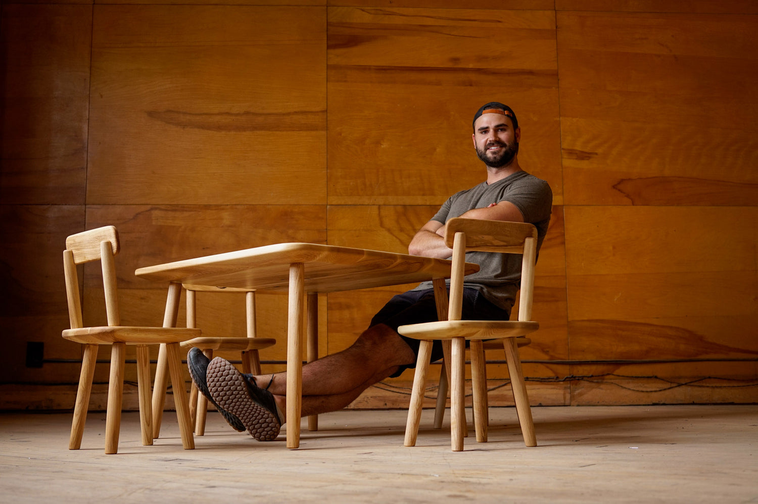
[[[109,345],[127,343],[127,345],[157,345],[158,343],[180,343],[199,337],[199,329],[185,327],[132,327],[99,326],[65,329],[62,336],[66,340],[87,345]]]

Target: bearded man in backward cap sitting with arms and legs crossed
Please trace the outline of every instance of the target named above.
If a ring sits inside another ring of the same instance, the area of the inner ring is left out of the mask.
[[[507,105],[490,102],[474,116],[471,138],[487,167],[487,180],[451,196],[440,211],[415,234],[409,253],[449,258],[445,223],[466,217],[496,221],[531,222],[537,227],[537,250],[547,233],[553,193],[547,182],[518,165],[521,129]],[[466,261],[480,271],[465,278],[463,318],[507,320],[515,302],[521,274],[521,257],[511,254],[469,252]],[[437,320],[431,282],[390,299],[348,349],[310,362],[302,368],[302,416],[344,408],[368,387],[414,368],[418,340],[397,333],[403,324]],[[432,362],[442,357],[435,342]],[[287,373],[243,375],[223,358],[208,358],[190,350],[187,365],[197,387],[236,430],[249,430],[256,440],[274,440],[286,419],[283,412]],[[268,383],[268,384],[266,384]],[[261,387],[263,385],[264,387]]]

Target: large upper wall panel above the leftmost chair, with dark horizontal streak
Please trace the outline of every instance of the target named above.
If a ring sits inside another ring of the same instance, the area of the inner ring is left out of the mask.
[[[87,201],[324,204],[325,8],[96,6]]]

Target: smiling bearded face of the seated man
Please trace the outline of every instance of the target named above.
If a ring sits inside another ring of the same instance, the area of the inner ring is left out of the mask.
[[[474,124],[474,147],[488,167],[510,164],[518,154],[521,129],[513,129],[511,118],[501,114],[482,114]]]

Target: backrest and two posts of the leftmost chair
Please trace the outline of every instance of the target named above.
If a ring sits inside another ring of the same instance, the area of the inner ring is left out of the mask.
[[[77,265],[91,261],[101,261],[102,263],[102,281],[105,288],[105,311],[108,315],[108,325],[117,326],[121,324],[114,261],[114,255],[118,251],[118,232],[114,226],[98,227],[83,233],[72,234],[66,238],[66,249],[63,251],[63,270],[66,277],[68,318],[72,329],[83,327]]]

